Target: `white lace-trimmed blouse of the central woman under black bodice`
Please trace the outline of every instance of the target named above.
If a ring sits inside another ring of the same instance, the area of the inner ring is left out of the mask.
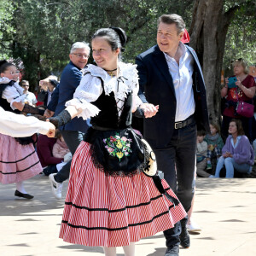
[[[118,109],[123,108],[127,94],[132,92],[132,110],[135,111],[137,106],[142,103],[137,96],[138,75],[136,67],[136,65],[130,63],[119,62],[119,76],[111,77],[101,67],[88,65],[83,70],[84,77],[75,90],[73,100],[66,102],[66,107],[74,106],[77,108],[79,111],[78,117],[82,117],[83,119],[90,119],[90,117],[96,116],[100,112],[100,109],[96,108],[90,102],[95,102],[102,95],[102,79],[106,95],[109,95],[113,91]],[[120,115],[121,111],[119,111]]]

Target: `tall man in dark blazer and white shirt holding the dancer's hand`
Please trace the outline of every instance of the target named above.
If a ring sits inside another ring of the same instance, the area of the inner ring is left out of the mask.
[[[201,66],[195,50],[181,43],[184,29],[181,16],[160,16],[157,45],[138,55],[136,63],[145,116],[153,116],[159,105],[153,118],[144,119],[144,137],[188,212],[195,187],[196,130],[209,131],[209,121]],[[166,256],[177,256],[179,244],[189,247],[186,223],[187,218],[164,231]]]

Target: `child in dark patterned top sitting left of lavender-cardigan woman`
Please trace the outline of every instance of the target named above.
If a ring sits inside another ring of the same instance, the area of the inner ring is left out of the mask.
[[[212,157],[216,156],[217,160],[221,156],[221,149],[224,146],[222,137],[219,134],[217,124],[210,124],[211,134],[207,134],[204,140],[207,142],[207,170],[212,169]]]

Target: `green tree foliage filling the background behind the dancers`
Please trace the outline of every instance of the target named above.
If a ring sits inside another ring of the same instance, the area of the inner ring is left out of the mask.
[[[61,73],[74,42],[90,43],[96,29],[120,26],[128,36],[124,61],[134,62],[136,55],[156,44],[158,17],[177,13],[189,28],[193,3],[192,0],[2,0],[0,56],[20,58],[24,79],[35,87],[38,79]],[[243,6],[236,12],[228,32],[224,66],[241,55],[255,62],[255,13],[248,8],[250,4],[253,1],[224,1],[225,11]]]

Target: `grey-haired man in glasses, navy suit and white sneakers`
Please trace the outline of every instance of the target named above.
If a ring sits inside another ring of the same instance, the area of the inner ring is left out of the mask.
[[[66,102],[73,99],[73,94],[82,79],[81,70],[87,64],[89,55],[90,47],[88,44],[84,42],[76,42],[72,45],[69,54],[70,61],[61,73],[57,106],[54,108],[51,102],[49,102],[51,108],[46,110],[44,116],[49,118],[53,115],[54,111],[55,115],[61,113],[61,111],[66,108]],[[84,133],[87,131],[88,127],[89,125],[87,121],[77,117],[72,119],[66,125],[59,127],[61,135],[72,154],[74,154],[76,149],[79,147],[79,143],[83,140]],[[69,177],[70,166],[71,160],[62,167],[60,172],[49,175],[52,191],[57,199],[61,199],[62,182]]]

